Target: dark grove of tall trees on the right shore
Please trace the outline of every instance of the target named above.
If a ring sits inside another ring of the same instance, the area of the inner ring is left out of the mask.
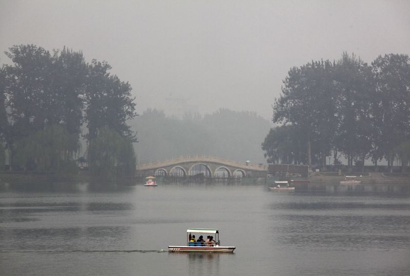
[[[386,54],[371,65],[354,54],[292,68],[273,104],[273,122],[262,143],[269,162],[320,164],[326,157],[351,169],[383,158],[391,169],[410,160],[410,59]]]

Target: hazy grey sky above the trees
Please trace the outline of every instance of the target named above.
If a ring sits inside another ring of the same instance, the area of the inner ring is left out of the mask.
[[[16,44],[82,50],[129,81],[137,112],[186,99],[272,116],[293,66],[410,54],[409,1],[0,0],[0,63]]]

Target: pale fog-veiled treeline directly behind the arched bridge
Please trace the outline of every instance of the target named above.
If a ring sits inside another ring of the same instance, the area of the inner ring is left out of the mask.
[[[227,109],[182,119],[149,109],[131,125],[140,130],[135,144],[139,161],[206,155],[264,163],[260,143],[271,128],[268,120],[255,113]]]

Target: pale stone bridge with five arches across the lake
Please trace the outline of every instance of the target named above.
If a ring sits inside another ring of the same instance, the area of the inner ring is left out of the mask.
[[[139,176],[265,177],[268,166],[211,156],[184,156],[137,165]]]

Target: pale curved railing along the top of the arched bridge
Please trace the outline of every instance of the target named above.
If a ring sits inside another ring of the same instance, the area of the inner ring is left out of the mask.
[[[260,165],[260,164],[246,164],[244,162],[238,162],[238,161],[233,161],[229,159],[223,159],[219,157],[214,157],[214,156],[200,156],[200,155],[195,155],[195,156],[179,156],[179,157],[173,157],[171,159],[166,159],[166,160],[161,160],[161,161],[141,161],[137,165],[137,169],[149,169],[153,167],[166,167],[172,164],[176,163],[183,163],[183,162],[215,162],[215,163],[221,163],[225,165],[231,165],[231,166],[237,166],[237,167],[243,167],[243,168],[249,168],[249,169],[255,169],[255,170],[264,170],[266,171],[268,169],[267,165]]]

